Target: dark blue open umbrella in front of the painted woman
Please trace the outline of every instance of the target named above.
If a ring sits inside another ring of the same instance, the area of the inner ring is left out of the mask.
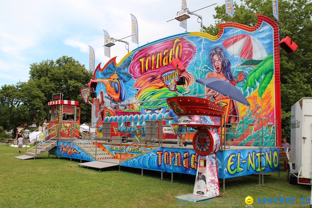
[[[196,79],[197,83],[212,89],[223,96],[228,96],[229,98],[236,100],[237,102],[250,106],[249,102],[245,98],[244,94],[239,91],[234,85],[225,80],[220,80],[217,78],[202,78]]]

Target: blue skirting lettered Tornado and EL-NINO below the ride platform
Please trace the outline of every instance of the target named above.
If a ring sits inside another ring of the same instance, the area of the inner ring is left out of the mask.
[[[224,178],[279,170],[278,148],[219,151],[216,155],[220,178],[223,170]],[[193,149],[159,148],[120,166],[196,175],[198,158]]]

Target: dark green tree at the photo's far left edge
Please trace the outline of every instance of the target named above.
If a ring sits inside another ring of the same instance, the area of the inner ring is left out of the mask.
[[[16,85],[3,85],[0,89],[0,125],[13,128],[13,137],[18,126],[42,121],[46,99],[34,81],[18,82]]]

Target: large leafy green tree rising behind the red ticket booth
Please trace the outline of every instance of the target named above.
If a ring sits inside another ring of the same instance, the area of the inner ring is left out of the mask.
[[[79,61],[67,56],[62,56],[56,61],[44,60],[31,64],[29,74],[29,79],[36,82],[37,87],[43,92],[46,102],[52,100],[53,94],[63,93],[63,99],[79,101],[80,122],[91,121],[91,105],[83,102],[80,89],[88,84],[93,73],[85,69]]]

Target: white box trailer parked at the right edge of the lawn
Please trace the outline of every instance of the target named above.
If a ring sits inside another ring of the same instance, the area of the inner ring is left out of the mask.
[[[301,98],[291,106],[290,184],[311,185],[312,179],[312,98]]]

